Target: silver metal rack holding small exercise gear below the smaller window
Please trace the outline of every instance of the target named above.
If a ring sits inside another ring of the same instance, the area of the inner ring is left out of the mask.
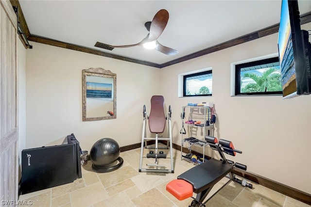
[[[181,160],[186,160],[188,162],[192,162],[191,158],[187,158],[184,155],[183,147],[184,145],[188,146],[189,151],[191,152],[191,147],[193,145],[202,147],[203,149],[203,162],[205,159],[205,147],[208,146],[208,143],[205,141],[205,136],[214,136],[214,124],[209,124],[209,117],[211,117],[211,108],[207,106],[183,106],[182,111],[188,114],[189,120],[196,119],[196,121],[201,121],[202,124],[191,124],[185,123],[186,115],[182,115],[182,123],[189,129],[189,134],[181,133]],[[182,113],[183,113],[182,112]],[[198,120],[197,120],[198,119]],[[208,122],[208,123],[207,123]],[[196,138],[194,137],[194,132],[198,129],[203,129],[203,137]],[[206,133],[209,130],[209,134]],[[194,163],[196,164],[196,163]]]

